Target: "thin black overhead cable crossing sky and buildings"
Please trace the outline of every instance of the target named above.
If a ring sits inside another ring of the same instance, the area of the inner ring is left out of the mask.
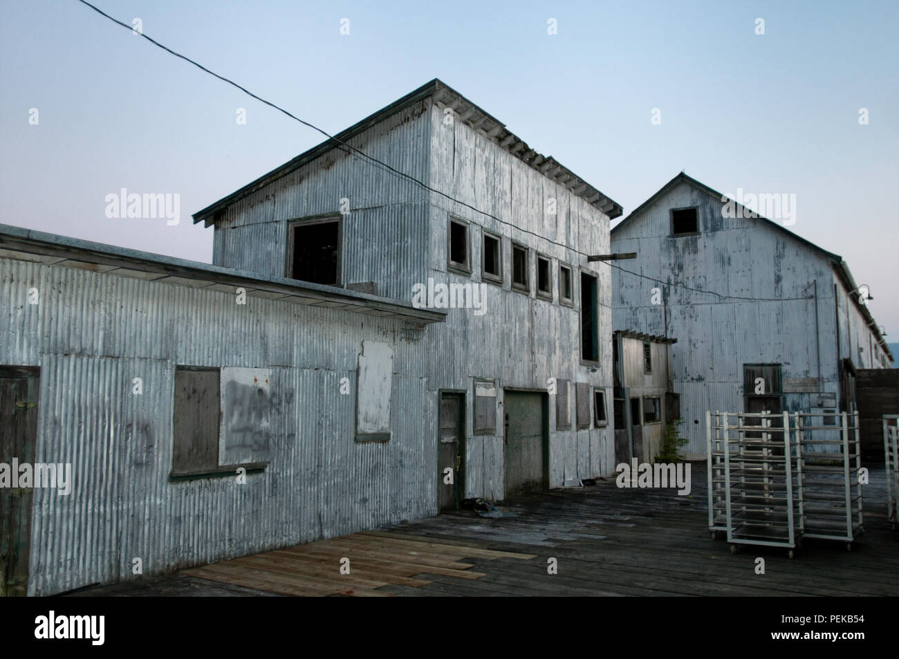
[[[93,4],[91,4],[91,3],[89,3],[89,2],[86,2],[86,0],[78,0],[78,2],[80,2],[81,4],[85,4],[86,6],[90,7],[91,9],[93,9],[94,12],[99,13],[99,14],[102,15],[104,18],[107,18],[107,19],[109,19],[111,22],[114,22],[114,23],[116,23],[117,25],[120,25],[121,27],[125,28],[125,29],[128,30],[129,32],[133,32],[133,31],[134,31],[133,27],[132,27],[131,25],[129,25],[128,23],[121,22],[119,19],[114,18],[114,17],[111,16],[110,14],[103,12],[102,9],[100,9],[99,7],[96,7],[96,6],[94,6]],[[517,225],[512,224],[512,222],[509,222],[509,221],[504,220],[504,219],[502,219],[502,218],[497,218],[493,213],[488,213],[488,212],[485,211],[485,210],[478,209],[478,208],[476,208],[475,206],[472,206],[471,204],[469,204],[469,203],[467,203],[467,202],[465,202],[465,201],[456,199],[455,197],[453,197],[453,196],[447,194],[446,192],[443,192],[443,191],[437,190],[437,189],[435,189],[435,188],[432,188],[430,185],[428,185],[427,183],[424,183],[423,181],[421,181],[421,180],[415,178],[413,175],[411,175],[411,174],[405,174],[405,172],[402,172],[402,171],[396,169],[396,167],[394,167],[394,166],[392,166],[392,165],[388,165],[387,163],[385,163],[385,162],[383,162],[383,161],[381,161],[381,160],[378,160],[378,158],[376,158],[376,157],[374,157],[374,156],[369,156],[367,153],[365,153],[365,152],[362,151],[361,149],[359,149],[359,148],[357,148],[357,147],[353,147],[352,145],[347,144],[346,142],[343,142],[343,140],[341,140],[341,139],[335,138],[334,135],[331,135],[331,134],[328,133],[327,131],[318,128],[316,125],[314,125],[314,124],[312,124],[312,123],[310,123],[310,122],[308,122],[308,121],[306,121],[306,120],[300,119],[300,118],[299,118],[298,116],[296,116],[295,114],[293,114],[293,113],[291,113],[291,112],[285,110],[284,108],[280,107],[280,105],[277,105],[276,103],[273,103],[273,102],[271,102],[271,101],[266,101],[262,96],[259,96],[259,95],[257,95],[257,94],[254,94],[253,92],[251,92],[250,90],[248,90],[246,87],[244,87],[244,86],[242,86],[242,85],[238,85],[236,82],[234,82],[234,81],[231,80],[230,78],[227,78],[227,77],[225,77],[225,76],[221,76],[221,75],[219,75],[218,73],[216,73],[215,71],[212,71],[212,70],[210,70],[210,69],[207,68],[207,67],[204,67],[204,66],[201,65],[199,62],[194,61],[193,59],[187,57],[186,55],[182,55],[181,53],[179,53],[179,52],[177,52],[177,51],[175,51],[175,50],[173,50],[173,49],[170,49],[168,46],[165,46],[165,44],[162,44],[162,43],[160,43],[159,41],[157,41],[157,40],[155,40],[155,39],[152,39],[151,37],[148,37],[146,34],[144,34],[143,31],[139,31],[138,34],[139,34],[141,37],[143,37],[144,39],[146,39],[147,41],[149,41],[150,43],[152,43],[152,44],[153,44],[154,46],[156,46],[157,48],[160,48],[160,49],[165,50],[165,52],[169,53],[170,55],[174,55],[174,57],[176,57],[176,58],[183,59],[185,62],[188,62],[189,64],[192,64],[194,67],[199,68],[199,69],[200,69],[201,71],[203,71],[204,73],[209,74],[209,76],[213,76],[213,77],[218,78],[218,80],[221,80],[223,83],[226,83],[227,85],[231,85],[231,86],[233,86],[233,87],[236,87],[236,89],[239,89],[241,92],[243,92],[244,94],[250,96],[251,98],[254,98],[256,101],[259,101],[259,102],[264,103],[265,105],[268,105],[269,107],[273,108],[274,110],[277,110],[277,111],[281,112],[282,114],[288,116],[290,119],[295,120],[295,121],[298,121],[299,123],[303,124],[304,126],[307,126],[307,128],[316,130],[317,132],[319,132],[319,133],[321,133],[322,135],[324,135],[325,138],[328,138],[328,139],[330,139],[330,140],[336,142],[337,145],[338,145],[340,148],[342,148],[344,152],[346,152],[346,153],[348,153],[348,154],[361,156],[362,158],[364,158],[365,160],[367,160],[367,161],[368,161],[370,164],[372,164],[372,165],[377,165],[378,167],[385,168],[385,169],[387,169],[387,171],[390,172],[391,174],[396,174],[397,176],[400,176],[400,177],[402,177],[402,178],[405,178],[407,181],[411,181],[412,183],[416,183],[416,184],[422,186],[423,189],[425,189],[425,190],[427,190],[427,191],[431,191],[431,192],[434,192],[435,194],[439,194],[439,195],[441,195],[441,197],[444,197],[444,198],[446,198],[446,199],[448,199],[448,200],[450,200],[450,201],[453,201],[453,202],[455,202],[455,203],[458,203],[458,204],[460,204],[460,205],[466,207],[467,209],[474,210],[476,213],[480,213],[481,215],[484,215],[484,216],[486,216],[486,217],[488,217],[488,218],[493,218],[493,219],[495,219],[497,222],[500,222],[501,224],[504,224],[504,225],[506,225],[506,226],[508,226],[508,227],[515,228],[515,229],[517,229],[518,231],[521,231],[522,233],[530,234],[531,236],[536,236],[536,237],[538,237],[540,240],[545,240],[545,241],[547,241],[547,243],[550,243],[551,245],[557,245],[557,246],[559,246],[559,247],[563,247],[563,248],[565,248],[566,250],[570,250],[570,251],[574,252],[575,254],[581,254],[582,256],[587,256],[587,257],[589,257],[589,256],[591,255],[591,254],[586,254],[585,252],[581,252],[580,250],[578,250],[578,249],[576,249],[576,248],[574,248],[574,247],[572,247],[572,246],[570,246],[570,245],[565,245],[564,243],[558,243],[558,242],[556,242],[555,240],[552,240],[551,238],[547,238],[547,236],[541,236],[540,234],[538,234],[538,233],[536,233],[536,232],[534,232],[534,231],[530,231],[530,229],[526,229],[526,228],[523,228],[523,227],[519,227],[519,226],[517,226]],[[608,263],[608,262],[606,262],[606,263]],[[788,300],[797,300],[797,299],[807,299],[807,298],[741,298],[741,297],[738,297],[738,296],[722,295],[722,294],[720,294],[720,293],[715,292],[714,290],[697,289],[697,288],[693,288],[693,287],[687,286],[686,284],[682,284],[682,283],[680,283],[680,282],[664,281],[664,280],[662,280],[662,279],[658,279],[658,278],[655,278],[655,277],[649,277],[649,276],[647,276],[647,275],[640,274],[640,273],[637,273],[637,272],[631,272],[631,271],[629,271],[629,270],[627,270],[627,269],[625,269],[625,268],[620,267],[619,265],[615,265],[614,263],[609,263],[609,265],[610,265],[611,267],[613,267],[613,268],[618,268],[621,272],[627,272],[628,274],[634,275],[635,277],[640,277],[640,278],[642,278],[642,279],[646,279],[646,280],[650,280],[650,281],[655,281],[655,282],[657,282],[657,283],[661,283],[661,284],[664,284],[664,285],[666,285],[666,286],[677,286],[677,287],[680,287],[680,288],[682,288],[682,289],[688,289],[688,290],[692,290],[692,291],[695,291],[695,292],[698,292],[698,293],[706,293],[706,294],[708,294],[708,295],[714,295],[714,296],[716,296],[717,298],[720,298],[720,299],[742,299],[742,300],[753,300],[753,301],[764,301],[764,302],[779,302],[779,301],[788,301]]]

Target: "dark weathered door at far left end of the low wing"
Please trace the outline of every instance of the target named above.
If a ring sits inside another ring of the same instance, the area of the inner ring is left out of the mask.
[[[33,468],[37,432],[38,370],[0,366],[0,462],[12,470],[14,458]],[[33,494],[31,487],[0,487],[0,596],[28,594]]]

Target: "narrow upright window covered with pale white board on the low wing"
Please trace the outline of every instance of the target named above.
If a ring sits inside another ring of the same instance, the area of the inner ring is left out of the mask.
[[[356,387],[356,441],[390,441],[390,389],[393,349],[363,341]]]

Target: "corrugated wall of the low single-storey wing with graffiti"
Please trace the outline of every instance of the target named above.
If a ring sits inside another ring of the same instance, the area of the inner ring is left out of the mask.
[[[437,512],[426,343],[400,321],[9,260],[0,320],[0,363],[41,367],[36,459],[73,466],[72,494],[35,491],[31,594],[129,578],[134,557],[154,574]],[[363,339],[395,352],[388,444],[354,441],[339,393]],[[176,364],[271,369],[263,474],[169,482]]]

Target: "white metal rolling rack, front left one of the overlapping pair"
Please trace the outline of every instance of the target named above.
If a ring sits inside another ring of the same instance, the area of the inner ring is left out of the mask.
[[[722,426],[731,551],[738,545],[783,547],[792,558],[801,544],[804,513],[801,449],[790,441],[789,413],[730,414]]]

